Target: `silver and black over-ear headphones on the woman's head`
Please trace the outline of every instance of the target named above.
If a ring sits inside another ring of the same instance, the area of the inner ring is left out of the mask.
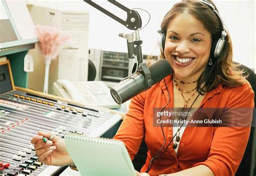
[[[220,36],[220,38],[217,38],[213,41],[212,47],[211,47],[211,54],[210,54],[210,57],[212,59],[218,59],[224,50],[225,37],[227,36],[227,33],[224,29],[223,20],[221,19],[219,12],[215,9],[214,5],[212,5],[210,2],[204,1],[204,0],[201,0],[199,2],[206,4],[215,13],[216,17],[219,20],[220,27],[221,27],[221,36]],[[160,48],[161,52],[164,52],[166,33],[163,33],[161,30],[158,30],[158,33],[160,33],[160,38],[158,41],[159,48]]]

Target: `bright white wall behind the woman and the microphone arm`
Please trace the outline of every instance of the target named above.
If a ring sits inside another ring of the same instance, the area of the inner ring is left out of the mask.
[[[31,3],[31,1],[29,1]],[[82,0],[78,1],[32,1],[32,3],[61,4],[70,10],[86,10],[90,12],[89,22],[89,47],[102,50],[126,52],[126,40],[118,37],[118,33],[132,32],[125,26],[107,17]],[[93,1],[103,8],[111,11],[116,16],[126,19],[126,13],[107,1]],[[142,50],[145,54],[159,53],[157,47],[158,33],[161,20],[173,4],[179,1],[118,1],[130,9],[143,8],[150,12],[149,24],[140,31],[143,40]],[[250,68],[256,65],[255,60],[255,1],[215,0],[221,17],[231,34],[234,48],[234,60]],[[138,10],[142,17],[143,25],[149,16],[146,12]]]

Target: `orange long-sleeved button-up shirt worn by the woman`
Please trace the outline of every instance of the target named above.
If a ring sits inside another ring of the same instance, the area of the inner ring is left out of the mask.
[[[169,108],[173,107],[172,75],[165,78],[171,94]],[[209,91],[200,108],[253,108],[254,93],[249,83],[231,88],[219,85]],[[161,80],[149,90],[132,98],[129,111],[114,139],[125,143],[131,159],[139,150],[142,139],[149,151],[145,172],[151,158],[163,145],[164,138],[160,127],[153,125],[153,108],[163,108],[169,96],[165,83]],[[249,117],[251,118],[251,117]],[[166,146],[173,137],[172,126],[164,127]],[[206,165],[214,175],[234,175],[244,154],[249,127],[187,127],[180,140],[178,153],[173,143],[160,157],[154,160],[150,175],[175,173],[198,165]]]

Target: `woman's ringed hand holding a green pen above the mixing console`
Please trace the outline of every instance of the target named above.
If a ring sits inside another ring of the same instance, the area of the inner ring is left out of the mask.
[[[38,136],[31,139],[31,143],[35,144],[38,160],[46,165],[71,165],[73,161],[66,150],[64,139],[55,136],[52,140],[43,142],[43,137],[50,138],[50,132],[38,131]]]

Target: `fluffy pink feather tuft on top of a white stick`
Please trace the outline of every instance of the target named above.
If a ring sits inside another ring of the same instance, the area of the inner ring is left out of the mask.
[[[60,31],[55,27],[37,25],[36,32],[39,50],[45,58],[55,59],[60,50],[71,39],[69,33]]]

